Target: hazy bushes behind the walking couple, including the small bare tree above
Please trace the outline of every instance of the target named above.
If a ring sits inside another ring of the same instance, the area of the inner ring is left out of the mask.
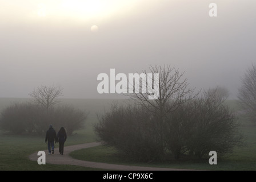
[[[45,134],[49,125],[55,129],[65,127],[67,134],[81,129],[87,114],[70,105],[59,104],[62,89],[54,86],[41,86],[30,96],[32,102],[10,105],[2,110],[0,126],[14,134]]]

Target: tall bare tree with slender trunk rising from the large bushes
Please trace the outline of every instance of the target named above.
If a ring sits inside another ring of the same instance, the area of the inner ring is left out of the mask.
[[[140,90],[143,87],[147,87],[147,93],[137,92],[130,96],[132,99],[135,99],[142,105],[145,109],[149,110],[150,113],[155,115],[157,122],[157,128],[155,131],[158,133],[158,140],[161,144],[160,151],[162,154],[165,151],[165,144],[164,144],[164,133],[166,130],[166,116],[177,110],[178,107],[185,102],[195,98],[197,94],[194,93],[194,89],[189,89],[189,84],[187,83],[187,78],[183,79],[183,73],[179,73],[178,69],[174,67],[170,67],[170,65],[164,65],[161,67],[159,65],[150,66],[149,71],[151,73],[158,73],[158,88],[159,94],[158,99],[156,100],[149,100],[147,97],[150,93],[153,93],[153,90],[149,88],[149,80],[140,81]],[[146,74],[146,71],[143,71]],[[153,80],[155,82],[156,80]],[[130,84],[130,83],[129,83]],[[152,85],[152,84],[151,84]],[[135,90],[134,85],[134,90]]]

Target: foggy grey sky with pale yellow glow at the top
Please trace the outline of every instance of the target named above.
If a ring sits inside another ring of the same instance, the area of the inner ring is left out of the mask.
[[[0,1],[0,97],[29,97],[54,84],[65,98],[121,98],[97,92],[99,73],[170,64],[192,88],[225,86],[235,98],[255,63],[254,0],[126,1],[90,15],[75,5],[61,9],[62,2]],[[211,2],[217,17],[209,16]]]

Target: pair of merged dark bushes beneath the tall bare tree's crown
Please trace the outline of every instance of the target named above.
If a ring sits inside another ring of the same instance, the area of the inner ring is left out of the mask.
[[[114,105],[94,128],[105,144],[134,160],[162,160],[162,147],[165,155],[171,153],[175,159],[202,158],[210,151],[227,154],[242,143],[242,135],[223,101],[209,90],[167,113],[162,125],[157,115],[141,105]]]

